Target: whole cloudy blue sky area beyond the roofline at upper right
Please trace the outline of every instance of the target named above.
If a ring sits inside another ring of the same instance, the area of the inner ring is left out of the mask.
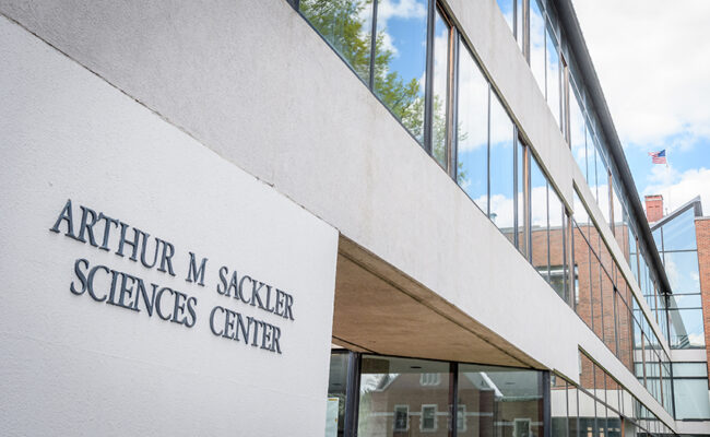
[[[710,1],[573,4],[641,200],[701,196],[710,215]],[[648,156],[663,149],[667,167]]]

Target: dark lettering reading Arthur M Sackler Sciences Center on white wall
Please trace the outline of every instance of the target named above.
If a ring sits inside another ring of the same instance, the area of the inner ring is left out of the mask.
[[[282,354],[282,326],[269,323],[257,316],[257,310],[280,316],[289,323],[294,317],[294,296],[275,285],[238,273],[235,268],[222,265],[210,274],[209,258],[192,251],[179,251],[171,243],[131,226],[103,211],[72,205],[71,199],[49,228],[56,234],[126,258],[147,270],[165,274],[164,283],[144,281],[141,276],[91,261],[91,253],[74,261],[74,276],[69,291],[86,296],[98,304],[111,305],[130,311],[143,312],[163,321],[192,328],[198,322],[209,323],[212,334],[241,342],[275,354]],[[186,272],[176,272],[174,259],[188,257]],[[210,286],[209,279],[217,277]],[[177,277],[185,285],[196,284],[206,293],[229,298],[224,305],[200,307],[200,293],[188,293],[182,286],[170,286]],[[205,277],[208,285],[205,285]],[[238,303],[244,308],[229,309]],[[245,309],[248,312],[245,312]]]

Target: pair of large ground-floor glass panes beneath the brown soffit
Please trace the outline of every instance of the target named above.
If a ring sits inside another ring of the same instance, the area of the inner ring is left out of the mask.
[[[357,436],[544,435],[542,371],[377,355],[359,369]]]

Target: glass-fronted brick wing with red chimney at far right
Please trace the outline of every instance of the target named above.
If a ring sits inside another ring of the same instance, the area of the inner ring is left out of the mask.
[[[673,290],[667,296],[667,323],[674,350],[675,416],[710,421],[710,218],[702,216],[699,197],[664,214],[663,197],[647,196],[646,211]]]

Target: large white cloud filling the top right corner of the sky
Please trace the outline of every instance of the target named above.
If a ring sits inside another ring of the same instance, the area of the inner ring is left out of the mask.
[[[710,139],[710,1],[573,3],[623,142]]]

